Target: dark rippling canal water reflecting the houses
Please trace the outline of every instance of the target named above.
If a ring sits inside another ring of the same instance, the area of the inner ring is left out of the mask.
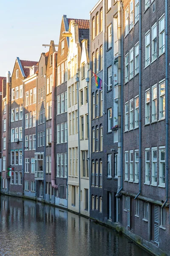
[[[116,231],[73,213],[0,196],[0,256],[149,256]]]

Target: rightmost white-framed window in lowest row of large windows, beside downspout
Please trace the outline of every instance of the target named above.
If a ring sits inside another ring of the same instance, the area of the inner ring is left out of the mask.
[[[159,185],[165,186],[165,147],[159,147]]]

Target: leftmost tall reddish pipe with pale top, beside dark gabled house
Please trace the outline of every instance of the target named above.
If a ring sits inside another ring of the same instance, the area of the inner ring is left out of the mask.
[[[9,131],[10,131],[10,121],[9,121],[9,108],[10,108],[10,76],[9,71],[6,72],[6,170],[9,166]],[[7,171],[6,171],[7,172]],[[7,183],[7,189],[9,193],[9,182]]]

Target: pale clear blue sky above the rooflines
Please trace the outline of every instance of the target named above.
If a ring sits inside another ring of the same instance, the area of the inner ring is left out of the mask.
[[[62,15],[89,19],[98,0],[0,0],[0,76],[12,73],[16,57],[39,61],[59,41]]]

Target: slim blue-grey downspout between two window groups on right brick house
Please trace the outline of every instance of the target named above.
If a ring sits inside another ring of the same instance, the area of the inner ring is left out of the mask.
[[[139,0],[139,193],[136,195],[135,199],[141,194],[141,152],[142,152],[142,10],[141,10],[142,0]]]

